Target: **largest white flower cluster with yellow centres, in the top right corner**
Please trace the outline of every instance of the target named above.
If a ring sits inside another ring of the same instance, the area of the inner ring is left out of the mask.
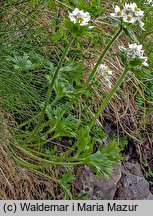
[[[144,30],[144,23],[142,22],[144,12],[137,7],[136,3],[125,4],[123,9],[116,5],[115,13],[111,13],[111,16],[121,18],[125,23],[138,22],[140,27]]]

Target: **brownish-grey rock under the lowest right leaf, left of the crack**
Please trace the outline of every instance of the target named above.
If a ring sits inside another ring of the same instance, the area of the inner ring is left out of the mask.
[[[82,167],[81,167],[82,169]],[[84,170],[77,170],[77,175],[79,176],[73,183],[73,192],[79,193],[77,195],[82,195],[88,193],[90,200],[111,200],[113,199],[117,183],[121,178],[121,166],[117,164],[114,167],[112,176],[110,179],[101,179],[97,177],[89,167],[84,166]]]

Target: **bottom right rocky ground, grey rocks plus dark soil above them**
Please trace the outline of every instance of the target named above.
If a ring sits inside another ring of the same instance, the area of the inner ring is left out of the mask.
[[[90,200],[153,200],[151,140],[145,140],[141,145],[129,142],[122,154],[124,159],[116,164],[110,179],[98,178],[87,166],[78,167],[73,193],[76,196],[87,193]],[[149,161],[146,167],[142,166],[143,161]]]

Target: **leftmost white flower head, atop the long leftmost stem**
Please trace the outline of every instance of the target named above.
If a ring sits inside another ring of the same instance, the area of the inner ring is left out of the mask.
[[[88,12],[83,12],[83,10],[79,10],[76,8],[72,13],[69,12],[69,18],[71,22],[78,23],[80,26],[88,25],[91,17]]]

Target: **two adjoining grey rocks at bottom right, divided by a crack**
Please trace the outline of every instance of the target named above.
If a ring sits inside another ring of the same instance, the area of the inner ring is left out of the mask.
[[[139,163],[117,164],[108,179],[100,179],[86,166],[77,169],[73,192],[77,196],[89,194],[90,200],[153,200],[149,183]]]

